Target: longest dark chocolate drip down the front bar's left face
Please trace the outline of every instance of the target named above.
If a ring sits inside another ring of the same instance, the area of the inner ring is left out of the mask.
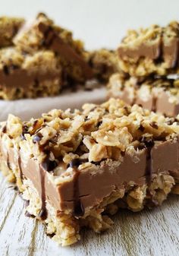
[[[41,182],[41,201],[42,201],[42,207],[39,211],[39,217],[41,220],[46,220],[47,218],[47,210],[46,210],[46,190],[45,190],[45,175],[46,172],[44,172],[44,169],[42,169],[42,166],[39,168],[39,175],[40,175],[40,182]]]

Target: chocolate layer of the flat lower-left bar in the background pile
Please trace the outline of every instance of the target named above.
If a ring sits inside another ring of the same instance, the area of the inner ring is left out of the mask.
[[[31,83],[40,81],[49,81],[51,79],[60,78],[59,72],[46,72],[45,74],[39,72],[30,72],[25,69],[16,69],[9,74],[0,71],[0,86],[13,88],[13,87],[28,87]]]

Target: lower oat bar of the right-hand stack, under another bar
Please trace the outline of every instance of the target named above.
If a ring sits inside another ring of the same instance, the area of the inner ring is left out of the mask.
[[[129,77],[116,73],[110,77],[108,97],[176,116],[179,113],[179,77]]]

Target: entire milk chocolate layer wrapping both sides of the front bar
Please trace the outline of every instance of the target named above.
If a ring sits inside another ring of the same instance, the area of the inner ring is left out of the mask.
[[[56,210],[70,210],[75,216],[83,215],[86,207],[94,207],[115,189],[129,182],[142,185],[150,182],[153,174],[171,172],[179,176],[178,141],[155,141],[152,148],[125,153],[121,163],[102,163],[89,169],[73,167],[74,175],[68,181],[55,185],[49,173],[35,158],[23,159],[13,148],[5,148],[1,141],[2,161],[14,164],[24,179],[30,179],[42,199],[42,218],[46,218],[46,201]],[[19,162],[18,156],[21,160]],[[20,166],[19,166],[20,163]],[[65,172],[65,169],[64,169]],[[77,209],[78,207],[78,209]]]

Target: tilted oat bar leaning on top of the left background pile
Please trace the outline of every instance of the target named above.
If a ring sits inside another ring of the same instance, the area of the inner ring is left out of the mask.
[[[24,52],[42,49],[55,52],[64,81],[83,83],[93,78],[83,43],[74,40],[71,31],[56,26],[46,14],[40,13],[33,22],[25,23],[14,37],[14,44]]]

